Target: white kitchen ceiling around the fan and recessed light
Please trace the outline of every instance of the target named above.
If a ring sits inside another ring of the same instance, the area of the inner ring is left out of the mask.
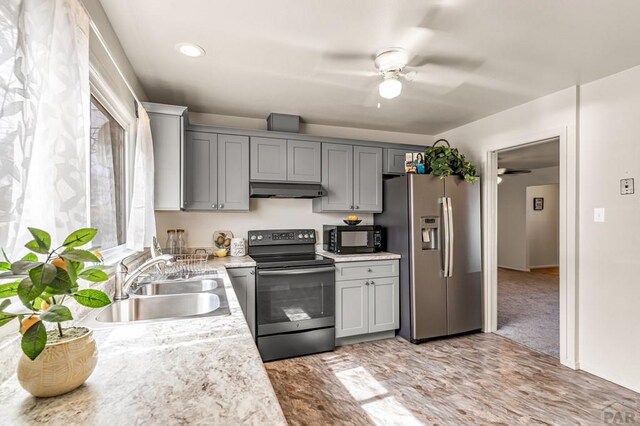
[[[197,112],[436,134],[640,64],[637,0],[101,2],[150,100]],[[377,109],[389,46],[431,63]]]

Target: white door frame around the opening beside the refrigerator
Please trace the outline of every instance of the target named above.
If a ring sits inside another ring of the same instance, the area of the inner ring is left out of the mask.
[[[578,151],[575,125],[523,135],[487,152],[482,214],[484,327],[498,328],[498,151],[558,138],[560,154],[560,362],[578,369]]]

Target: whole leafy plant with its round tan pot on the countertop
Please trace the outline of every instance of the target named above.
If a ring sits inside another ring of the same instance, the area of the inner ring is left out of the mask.
[[[104,292],[78,287],[79,279],[100,282],[108,275],[99,265],[97,252],[80,248],[95,237],[96,229],[78,229],[54,249],[47,232],[36,228],[29,228],[29,232],[33,240],[25,247],[31,253],[10,262],[2,251],[0,326],[15,319],[19,322],[23,355],[17,376],[22,387],[34,396],[56,396],[82,385],[93,372],[98,355],[91,330],[62,327],[63,322],[73,319],[63,303],[75,299],[90,308],[109,305]],[[13,296],[21,302],[18,310],[10,307],[8,298]]]

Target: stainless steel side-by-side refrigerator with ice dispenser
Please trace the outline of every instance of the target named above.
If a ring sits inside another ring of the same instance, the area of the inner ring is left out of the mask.
[[[385,249],[400,259],[400,331],[419,343],[482,328],[480,182],[407,174],[384,182]]]

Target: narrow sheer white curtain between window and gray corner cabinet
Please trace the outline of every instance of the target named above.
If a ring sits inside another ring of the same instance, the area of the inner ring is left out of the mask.
[[[147,111],[141,105],[138,108],[138,116],[127,248],[141,251],[144,247],[152,247],[153,237],[156,235],[156,217],[153,210],[154,165],[151,123]]]

